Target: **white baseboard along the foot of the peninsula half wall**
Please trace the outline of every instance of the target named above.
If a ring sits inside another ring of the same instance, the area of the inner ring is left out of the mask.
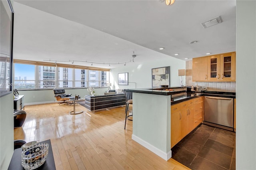
[[[156,148],[152,144],[149,144],[148,142],[146,142],[145,140],[142,140],[141,138],[139,138],[138,136],[136,136],[134,134],[132,134],[132,140],[134,140],[135,142],[138,142],[139,144],[141,144],[142,146],[144,146],[145,148],[147,148],[148,150],[150,150],[154,154],[160,156],[161,158],[163,158],[166,161],[169,160],[172,157],[172,150],[165,153],[164,151]]]

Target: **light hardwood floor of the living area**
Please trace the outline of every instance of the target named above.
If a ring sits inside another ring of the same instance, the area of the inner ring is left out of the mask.
[[[57,103],[25,107],[26,121],[14,128],[14,140],[51,140],[57,170],[189,169],[172,158],[163,160],[132,140],[132,121],[124,130],[125,107],[89,112]]]

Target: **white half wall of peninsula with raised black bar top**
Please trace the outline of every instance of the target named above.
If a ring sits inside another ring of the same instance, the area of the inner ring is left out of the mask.
[[[174,91],[165,90],[170,88]],[[186,87],[170,88],[126,90],[133,92],[132,139],[164,160],[168,160],[172,156],[170,144],[171,95],[186,92]],[[198,96],[192,95],[189,99],[195,97]]]

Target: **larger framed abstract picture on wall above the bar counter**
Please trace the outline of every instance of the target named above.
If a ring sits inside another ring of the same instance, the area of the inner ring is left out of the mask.
[[[170,87],[170,66],[152,69],[152,87]]]

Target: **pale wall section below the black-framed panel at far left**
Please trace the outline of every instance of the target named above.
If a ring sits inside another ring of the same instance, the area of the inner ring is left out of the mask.
[[[14,150],[13,94],[0,98],[0,169],[9,166]]]

